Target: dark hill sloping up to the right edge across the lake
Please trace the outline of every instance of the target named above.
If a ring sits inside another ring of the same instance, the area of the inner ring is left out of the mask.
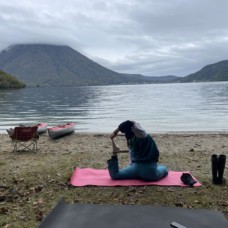
[[[196,73],[176,79],[177,82],[228,81],[228,60],[210,64]]]

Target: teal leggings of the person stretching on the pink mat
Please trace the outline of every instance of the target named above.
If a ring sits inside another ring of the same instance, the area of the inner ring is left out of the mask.
[[[119,169],[117,157],[112,157],[107,163],[110,177],[113,180],[140,179],[157,181],[168,175],[167,167],[158,165],[157,162],[134,162],[123,169]]]

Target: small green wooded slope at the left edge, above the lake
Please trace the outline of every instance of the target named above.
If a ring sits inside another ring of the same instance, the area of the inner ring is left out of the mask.
[[[25,84],[19,80],[17,80],[12,75],[6,74],[5,72],[0,70],[0,89],[18,89],[24,88]]]

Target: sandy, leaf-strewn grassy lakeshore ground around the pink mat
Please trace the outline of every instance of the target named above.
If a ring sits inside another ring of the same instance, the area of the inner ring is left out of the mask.
[[[151,135],[160,151],[159,162],[167,165],[170,170],[190,171],[202,183],[202,187],[194,192],[183,192],[179,188],[156,188],[158,198],[153,196],[153,188],[137,188],[134,190],[134,196],[132,190],[130,193],[126,192],[128,191],[126,188],[111,190],[100,188],[99,191],[97,188],[72,189],[66,182],[69,181],[74,167],[107,168],[106,161],[112,154],[108,134],[75,132],[53,140],[45,133],[40,135],[36,153],[12,152],[11,139],[7,134],[0,134],[0,217],[3,215],[0,226],[14,227],[11,226],[11,221],[18,222],[15,227],[39,223],[63,195],[68,201],[80,203],[167,204],[212,208],[223,212],[228,218],[228,162],[224,171],[226,183],[222,186],[211,183],[211,155],[228,155],[228,135],[222,133]],[[121,149],[127,148],[124,136],[118,136],[116,143]],[[120,154],[119,161],[121,166],[127,165],[128,154]],[[9,193],[9,188],[20,193],[15,193],[17,197],[13,200],[9,200],[9,196],[12,198],[12,191]],[[114,191],[118,194],[116,193],[117,196],[112,199],[110,195],[115,194]],[[161,201],[159,196],[163,195],[163,191],[169,196],[165,202]],[[102,198],[101,192],[103,192]],[[138,195],[142,192],[144,197],[139,199]],[[213,200],[215,198],[216,201]]]

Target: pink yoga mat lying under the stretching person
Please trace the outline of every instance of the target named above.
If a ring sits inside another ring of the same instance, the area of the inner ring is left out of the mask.
[[[182,173],[189,173],[186,171],[169,171],[168,176],[159,181],[141,181],[141,180],[112,180],[106,169],[92,169],[92,168],[76,168],[71,177],[70,183],[76,187],[82,186],[144,186],[144,185],[158,185],[158,186],[187,186],[183,184],[180,177]],[[192,176],[193,177],[193,176]],[[195,180],[196,178],[193,177]],[[196,180],[197,181],[197,180]],[[201,186],[197,181],[194,187]]]

